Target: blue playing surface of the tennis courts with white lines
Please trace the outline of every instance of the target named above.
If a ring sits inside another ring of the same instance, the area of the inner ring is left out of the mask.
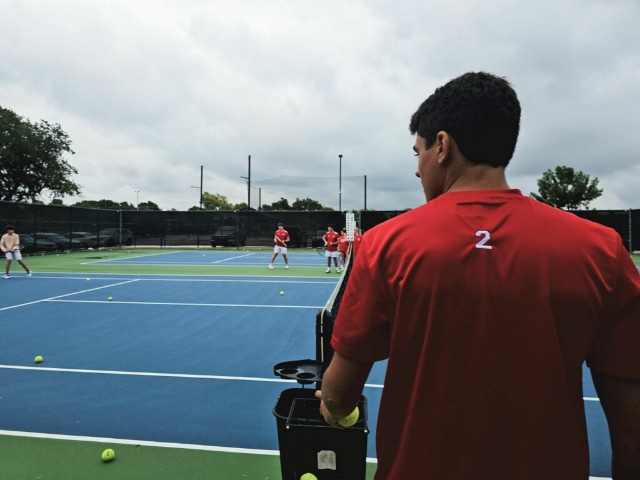
[[[339,277],[295,276],[303,265],[322,269],[316,254],[296,256],[279,275],[281,259],[266,268],[270,256],[134,253],[87,258],[90,274],[16,273],[0,297],[0,430],[276,453],[272,409],[297,384],[273,366],[315,357],[316,313]],[[114,262],[197,264],[204,274],[99,273]],[[265,274],[215,275],[222,262]],[[371,458],[384,368],[375,366],[365,390]],[[586,369],[584,396],[592,475],[609,476],[606,423]]]

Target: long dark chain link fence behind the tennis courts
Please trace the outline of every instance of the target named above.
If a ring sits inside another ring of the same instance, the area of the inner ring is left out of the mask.
[[[363,210],[366,231],[403,211]],[[576,215],[615,229],[629,251],[640,250],[640,210],[583,210]],[[102,247],[251,247],[273,245],[279,222],[291,246],[316,247],[328,225],[345,226],[337,211],[137,211],[0,202],[0,225],[14,225],[25,253]]]

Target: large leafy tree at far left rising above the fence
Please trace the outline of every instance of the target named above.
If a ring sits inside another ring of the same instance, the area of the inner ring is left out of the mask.
[[[0,107],[0,200],[34,201],[45,191],[54,198],[80,194],[70,178],[78,171],[64,153],[74,152],[60,125],[31,123]]]

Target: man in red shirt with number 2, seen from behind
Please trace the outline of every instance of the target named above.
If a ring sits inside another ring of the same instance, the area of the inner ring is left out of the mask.
[[[376,479],[588,479],[585,361],[613,478],[640,478],[640,275],[615,231],[508,186],[519,123],[487,73],[411,118],[427,203],[364,236],[316,392],[335,425],[388,359]]]

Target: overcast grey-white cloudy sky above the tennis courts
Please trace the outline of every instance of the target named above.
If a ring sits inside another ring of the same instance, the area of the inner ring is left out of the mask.
[[[512,187],[568,165],[592,207],[640,208],[638,25],[638,0],[0,0],[0,105],[62,126],[83,199],[185,210],[202,166],[246,202],[250,155],[253,207],[359,209],[366,177],[368,208],[403,209],[411,114],[484,70],[523,108]]]

